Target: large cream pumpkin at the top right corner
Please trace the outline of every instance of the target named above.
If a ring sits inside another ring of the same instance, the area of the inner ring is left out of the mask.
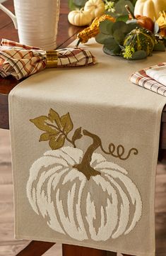
[[[137,0],[134,16],[148,16],[154,21],[158,19],[160,11],[166,10],[166,0]]]

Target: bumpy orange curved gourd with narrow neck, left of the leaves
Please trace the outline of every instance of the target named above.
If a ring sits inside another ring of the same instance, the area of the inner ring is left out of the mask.
[[[107,14],[103,14],[102,16],[95,18],[93,23],[88,28],[85,28],[80,33],[78,33],[77,37],[79,39],[76,46],[78,46],[79,43],[88,42],[90,38],[94,38],[100,32],[100,29],[99,29],[100,22],[105,20],[114,22],[115,18]]]

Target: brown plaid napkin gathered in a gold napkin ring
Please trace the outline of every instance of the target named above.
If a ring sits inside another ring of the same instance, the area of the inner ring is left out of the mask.
[[[40,48],[2,39],[0,46],[0,75],[16,79],[28,77],[45,67],[80,67],[94,65],[95,57],[81,48],[64,48],[46,52]]]

